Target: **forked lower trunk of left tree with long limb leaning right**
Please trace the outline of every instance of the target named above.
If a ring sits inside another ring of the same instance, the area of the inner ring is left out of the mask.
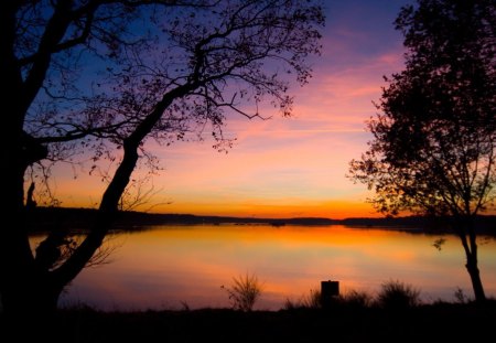
[[[95,225],[85,240],[74,251],[74,254],[58,268],[48,271],[47,267],[41,267],[36,264],[31,251],[28,229],[25,227],[25,207],[23,200],[23,176],[29,162],[39,159],[45,150],[40,151],[34,144],[31,147],[29,135],[22,129],[20,137],[14,140],[14,147],[21,150],[24,147],[26,151],[9,150],[8,141],[1,141],[0,149],[9,152],[7,173],[11,172],[7,180],[8,186],[8,206],[3,208],[7,223],[19,223],[14,229],[3,229],[0,233],[0,293],[6,314],[12,314],[12,318],[22,320],[28,314],[33,321],[45,318],[54,312],[57,307],[58,297],[66,285],[68,285],[86,266],[94,256],[95,251],[101,246],[111,223],[117,214],[119,200],[129,183],[130,176],[138,161],[138,148],[142,140],[150,133],[153,126],[160,120],[164,109],[175,99],[184,96],[196,85],[188,84],[181,86],[175,90],[164,95],[161,101],[154,107],[149,116],[136,128],[136,130],[123,141],[125,156],[117,169],[110,184],[108,185],[96,218]],[[0,135],[0,137],[2,137]],[[4,138],[4,137],[2,137]],[[25,140],[25,142],[23,141]],[[33,148],[35,157],[31,152]],[[40,156],[39,156],[40,153]],[[43,158],[43,157],[42,157]],[[6,171],[2,171],[6,176]],[[13,182],[17,183],[13,185]],[[2,211],[2,212],[3,212]]]

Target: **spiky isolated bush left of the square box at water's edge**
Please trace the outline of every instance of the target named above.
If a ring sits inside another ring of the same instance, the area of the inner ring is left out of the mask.
[[[261,296],[262,286],[255,275],[239,276],[233,278],[233,286],[220,286],[227,291],[233,309],[245,312],[251,311],[255,303]]]

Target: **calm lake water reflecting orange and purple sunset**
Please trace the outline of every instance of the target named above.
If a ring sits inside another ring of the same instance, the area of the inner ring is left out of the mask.
[[[409,283],[423,301],[472,298],[464,253],[455,236],[345,226],[154,226],[112,236],[107,262],[86,268],[61,299],[103,310],[228,307],[234,277],[247,272],[262,283],[256,309],[278,310],[308,297],[322,280],[339,290],[375,294],[388,280]],[[35,245],[36,239],[33,239]],[[496,297],[496,242],[481,239],[479,268],[486,294]]]

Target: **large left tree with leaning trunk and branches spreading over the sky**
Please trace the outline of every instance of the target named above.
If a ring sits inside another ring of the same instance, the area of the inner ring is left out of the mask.
[[[290,115],[289,81],[294,75],[304,84],[311,76],[305,60],[320,51],[324,21],[319,6],[294,0],[2,7],[1,68],[12,84],[2,96],[15,105],[1,137],[2,214],[17,224],[1,231],[0,292],[3,310],[13,314],[56,308],[62,290],[101,246],[137,163],[148,157],[148,139],[169,143],[209,124],[222,144],[225,116],[260,116],[249,106],[266,99]],[[95,62],[105,67],[88,83]],[[75,66],[80,75],[71,73]],[[53,234],[33,254],[23,223],[24,173],[45,158],[67,159],[76,147],[118,167],[86,238],[62,256],[64,236]]]

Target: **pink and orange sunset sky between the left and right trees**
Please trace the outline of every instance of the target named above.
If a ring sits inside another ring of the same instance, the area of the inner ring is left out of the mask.
[[[313,77],[291,88],[294,115],[269,120],[229,117],[236,138],[227,153],[213,142],[149,144],[163,170],[153,197],[137,211],[242,217],[379,216],[373,193],[346,178],[367,150],[366,120],[375,115],[384,76],[403,68],[402,36],[393,21],[406,0],[324,1],[322,55]],[[64,167],[62,167],[64,168]],[[95,207],[105,184],[87,171],[60,173],[53,185],[63,206]],[[84,186],[82,186],[82,184]],[[149,185],[151,186],[151,184]]]

